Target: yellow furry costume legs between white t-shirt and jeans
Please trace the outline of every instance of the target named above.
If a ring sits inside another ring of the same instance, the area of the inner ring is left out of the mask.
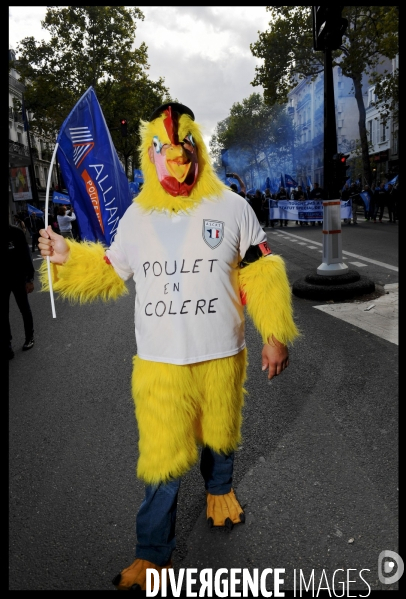
[[[155,485],[181,477],[196,463],[198,444],[225,454],[237,449],[245,370],[245,350],[184,366],[135,356],[139,478]]]

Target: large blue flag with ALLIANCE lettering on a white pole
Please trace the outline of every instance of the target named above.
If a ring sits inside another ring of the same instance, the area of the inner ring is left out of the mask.
[[[57,143],[81,239],[110,245],[132,197],[93,87],[65,119]]]

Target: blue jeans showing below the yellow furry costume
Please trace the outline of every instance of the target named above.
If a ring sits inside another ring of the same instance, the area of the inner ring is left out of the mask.
[[[231,491],[234,452],[216,453],[202,449],[200,472],[205,488],[212,495]],[[168,483],[145,486],[145,499],[137,514],[137,544],[135,557],[165,566],[176,546],[175,524],[180,478]]]

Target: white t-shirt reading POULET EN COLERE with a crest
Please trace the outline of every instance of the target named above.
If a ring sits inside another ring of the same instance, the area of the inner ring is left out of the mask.
[[[146,214],[133,203],[106,254],[122,279],[135,281],[139,357],[191,364],[241,351],[239,262],[263,241],[251,206],[232,191],[190,214]]]

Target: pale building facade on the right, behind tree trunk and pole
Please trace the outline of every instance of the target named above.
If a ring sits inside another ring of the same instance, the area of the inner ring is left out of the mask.
[[[393,61],[385,60],[377,68],[392,72],[398,68],[398,56]],[[362,183],[360,158],[359,110],[355,99],[353,82],[345,77],[339,66],[333,69],[334,102],[337,130],[337,151],[349,154],[348,175],[352,181]],[[366,126],[370,144],[369,156],[373,181],[387,181],[398,174],[399,125],[391,117],[383,119],[379,106],[375,105],[374,86],[365,75],[362,79],[363,99],[366,109]],[[295,160],[293,177],[298,183],[324,185],[324,74],[315,81],[304,79],[288,94],[287,112],[291,115],[296,130]]]

